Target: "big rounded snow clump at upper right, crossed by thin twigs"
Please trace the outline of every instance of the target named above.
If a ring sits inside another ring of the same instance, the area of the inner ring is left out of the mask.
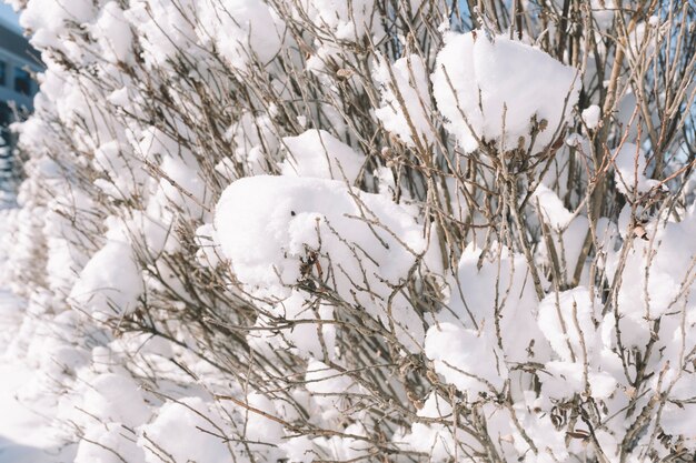
[[[554,141],[577,102],[577,71],[544,51],[484,32],[450,33],[437,54],[432,92],[438,109],[465,151],[496,141],[501,151],[531,144],[536,151]],[[566,101],[567,100],[567,101]],[[546,121],[544,123],[543,121]]]

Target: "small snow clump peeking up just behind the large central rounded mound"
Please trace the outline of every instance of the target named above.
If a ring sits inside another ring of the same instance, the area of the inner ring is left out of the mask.
[[[315,177],[355,183],[365,157],[325,130],[308,130],[282,139],[288,157],[281,162],[284,175]]]

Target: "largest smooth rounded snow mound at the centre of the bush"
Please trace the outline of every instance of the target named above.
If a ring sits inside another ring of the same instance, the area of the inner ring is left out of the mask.
[[[249,289],[272,288],[276,295],[286,296],[289,291],[282,286],[302,278],[300,259],[310,252],[340,263],[336,288],[351,300],[350,280],[362,283],[367,279],[380,286],[379,275],[396,283],[426,244],[422,228],[402,207],[377,194],[348,190],[337,180],[312,178],[240,179],[222,193],[215,225],[239,281]],[[362,260],[361,269],[356,255],[365,254],[369,259]],[[320,264],[328,269],[326,258]]]

